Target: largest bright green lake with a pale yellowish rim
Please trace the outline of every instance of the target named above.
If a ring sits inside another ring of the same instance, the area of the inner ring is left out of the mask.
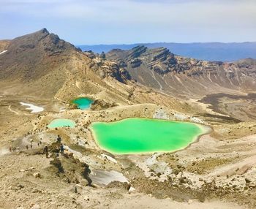
[[[91,130],[100,148],[116,154],[177,151],[209,132],[197,123],[147,118],[94,122]]]

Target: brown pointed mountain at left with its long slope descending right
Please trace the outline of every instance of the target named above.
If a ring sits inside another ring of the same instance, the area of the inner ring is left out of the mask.
[[[0,54],[0,134],[32,117],[19,117],[19,102],[46,104],[47,111],[59,112],[70,100],[90,96],[105,107],[152,102],[192,110],[185,102],[138,86],[116,62],[83,53],[45,28],[0,44],[4,49]],[[7,139],[19,134],[7,134]]]

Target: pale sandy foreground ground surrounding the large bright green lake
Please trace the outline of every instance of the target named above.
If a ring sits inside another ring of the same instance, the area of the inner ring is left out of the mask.
[[[0,101],[0,208],[256,207],[253,121],[212,122],[148,103],[72,110],[61,102],[30,98],[27,103],[44,107],[42,113],[31,113],[19,104],[21,97],[2,95]],[[214,132],[176,153],[113,155],[100,150],[91,122],[129,117],[194,121]],[[69,118],[77,126],[47,129],[53,118]],[[56,157],[53,151],[58,134],[67,156]],[[10,145],[19,151],[10,152]],[[45,145],[50,158],[42,154]],[[89,164],[93,187],[86,186],[83,163]]]

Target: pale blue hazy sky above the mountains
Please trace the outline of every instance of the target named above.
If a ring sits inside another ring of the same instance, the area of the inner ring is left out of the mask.
[[[255,0],[0,0],[0,39],[47,28],[74,45],[256,41]]]

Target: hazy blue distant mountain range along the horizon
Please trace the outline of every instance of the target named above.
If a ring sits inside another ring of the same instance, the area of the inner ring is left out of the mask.
[[[197,58],[206,61],[237,61],[242,58],[256,58],[256,42],[241,43],[144,43],[132,45],[78,45],[81,50],[92,50],[95,53],[108,53],[113,49],[130,50],[138,45],[148,48],[166,47],[179,56]]]

